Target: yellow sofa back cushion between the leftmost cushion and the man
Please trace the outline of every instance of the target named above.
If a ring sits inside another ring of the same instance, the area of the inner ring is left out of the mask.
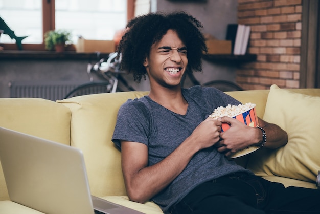
[[[120,106],[148,92],[92,94],[58,100],[70,108],[71,145],[83,152],[90,189],[95,196],[126,195],[121,154],[111,141]]]

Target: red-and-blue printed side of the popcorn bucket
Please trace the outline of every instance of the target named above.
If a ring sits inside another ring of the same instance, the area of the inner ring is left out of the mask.
[[[251,109],[241,112],[235,116],[232,116],[232,118],[235,118],[250,127],[256,127],[259,125],[255,104]],[[229,128],[230,128],[230,124],[222,123],[221,132],[227,131]]]

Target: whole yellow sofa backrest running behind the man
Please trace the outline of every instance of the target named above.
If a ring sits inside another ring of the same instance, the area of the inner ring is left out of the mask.
[[[292,89],[319,96],[319,90]],[[226,92],[242,103],[256,103],[262,118],[269,90]],[[83,151],[90,189],[96,196],[126,195],[121,153],[111,137],[120,106],[148,92],[119,92],[73,97],[56,102],[39,98],[0,99],[0,126],[72,145]],[[235,159],[246,167],[250,155]],[[0,167],[0,200],[9,199]]]

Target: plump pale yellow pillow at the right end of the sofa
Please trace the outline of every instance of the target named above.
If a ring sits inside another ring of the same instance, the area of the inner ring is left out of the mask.
[[[263,120],[288,133],[288,143],[278,149],[259,149],[248,168],[258,176],[276,175],[315,182],[320,170],[320,97],[272,85]]]

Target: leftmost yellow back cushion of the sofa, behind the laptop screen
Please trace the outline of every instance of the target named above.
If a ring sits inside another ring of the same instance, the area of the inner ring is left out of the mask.
[[[0,126],[70,145],[71,111],[39,98],[0,99]],[[9,199],[0,165],[0,200]]]

